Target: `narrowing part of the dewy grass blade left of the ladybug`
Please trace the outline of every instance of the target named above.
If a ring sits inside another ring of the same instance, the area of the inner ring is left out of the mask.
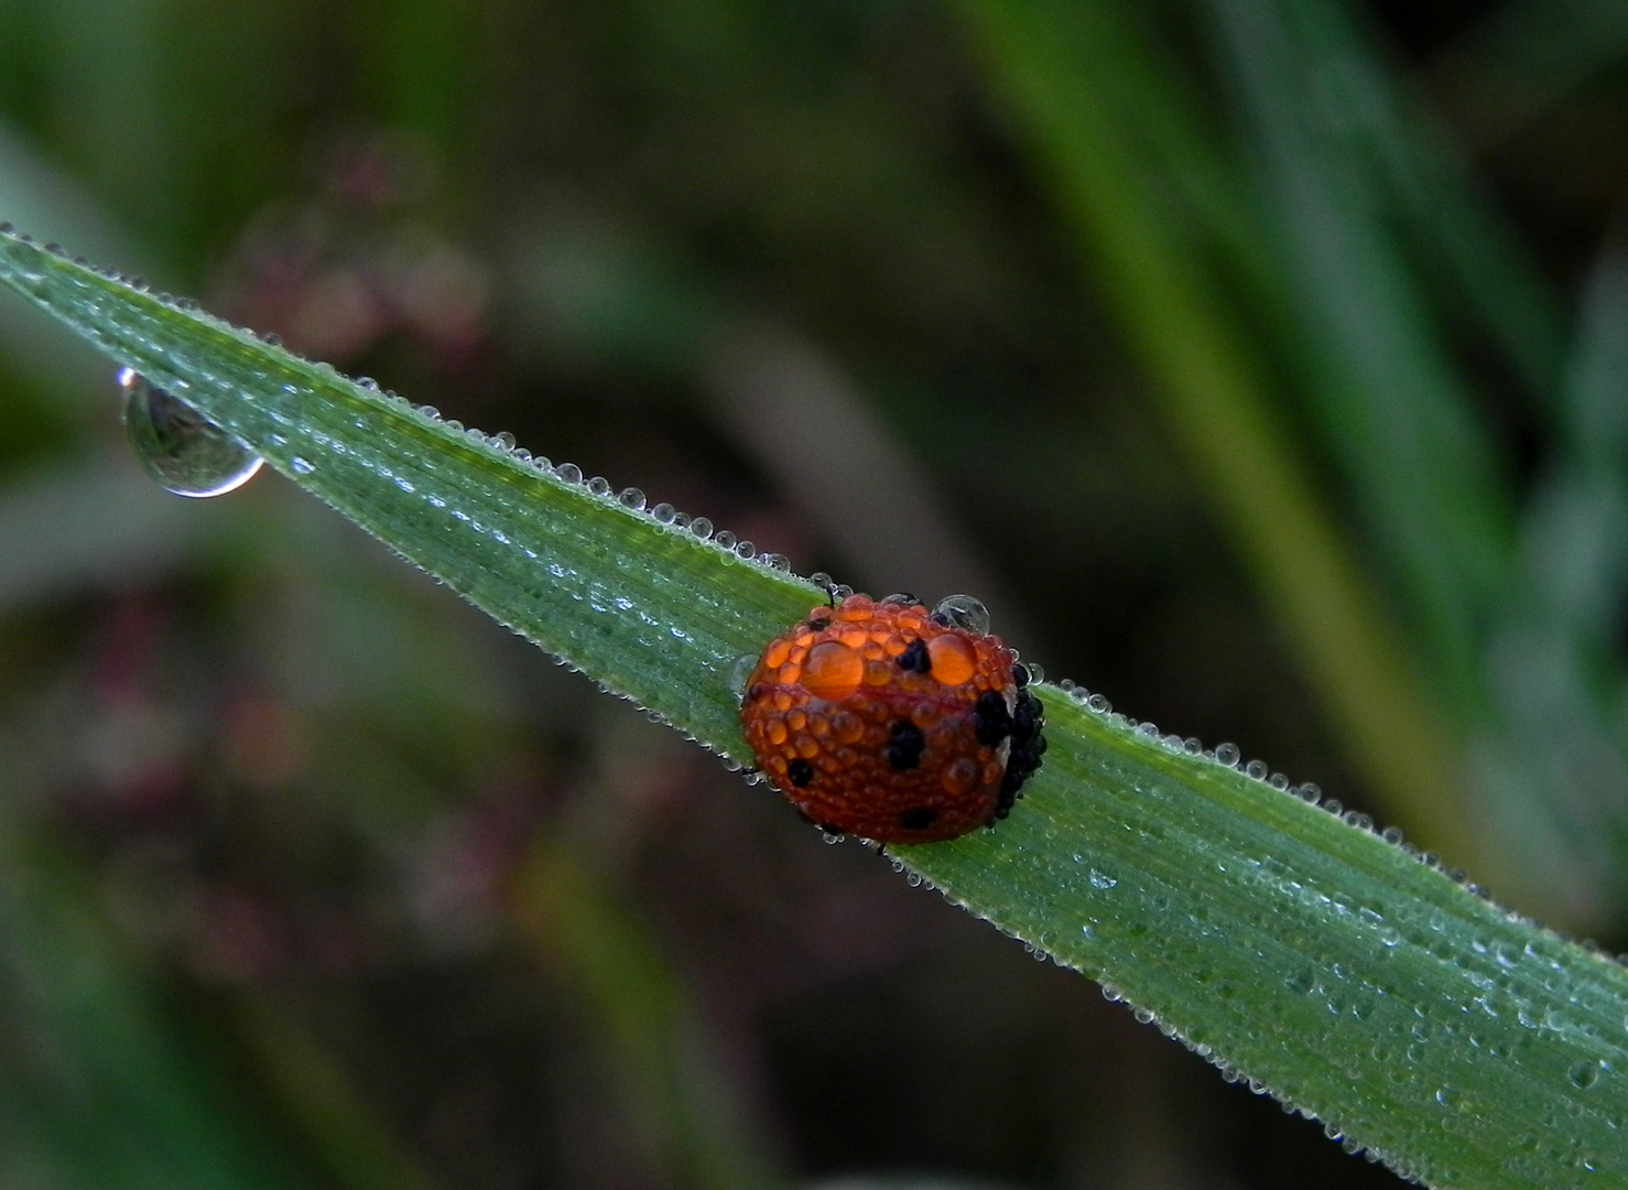
[[[3,254],[15,288],[116,360],[493,619],[708,747],[739,746],[734,659],[824,597],[225,322],[31,244],[5,239]],[[752,580],[729,581],[731,570]]]

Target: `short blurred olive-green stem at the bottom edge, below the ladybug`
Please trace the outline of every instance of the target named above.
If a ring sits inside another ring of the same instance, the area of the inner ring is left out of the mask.
[[[573,990],[614,1068],[653,1174],[695,1190],[772,1190],[780,1179],[728,1099],[695,1013],[656,939],[557,842],[523,864],[511,915]]]

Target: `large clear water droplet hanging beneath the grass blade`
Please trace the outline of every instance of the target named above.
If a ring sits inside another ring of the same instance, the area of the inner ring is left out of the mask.
[[[119,370],[119,387],[124,431],[142,470],[176,495],[220,497],[260,469],[260,456],[135,370]]]

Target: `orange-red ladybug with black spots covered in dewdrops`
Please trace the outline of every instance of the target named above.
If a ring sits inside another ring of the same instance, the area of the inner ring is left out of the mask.
[[[877,843],[1006,817],[1040,767],[1044,708],[1001,638],[974,630],[983,622],[965,596],[934,612],[913,596],[816,607],[746,682],[759,770],[811,822]]]

